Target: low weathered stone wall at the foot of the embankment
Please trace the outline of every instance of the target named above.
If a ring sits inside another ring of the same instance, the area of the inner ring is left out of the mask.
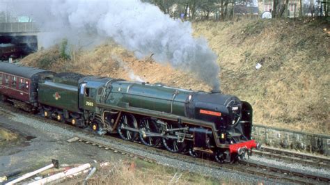
[[[330,135],[311,134],[254,124],[252,136],[263,145],[330,156]]]

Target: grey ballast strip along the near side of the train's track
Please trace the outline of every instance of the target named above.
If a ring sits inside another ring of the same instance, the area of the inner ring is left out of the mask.
[[[20,122],[25,125],[29,125],[29,127],[33,127],[34,129],[38,129],[41,131],[45,131],[48,133],[52,133],[55,137],[60,137],[65,139],[72,138],[73,136],[78,136],[81,138],[86,137],[86,134],[77,133],[74,131],[70,131],[69,129],[64,129],[62,127],[58,127],[52,123],[48,122],[41,122],[39,120],[35,120],[32,118],[27,118],[24,115],[15,114],[15,117],[11,118],[15,122]],[[95,136],[90,138],[90,140],[95,140],[98,143],[102,143],[105,145],[110,145],[113,147],[117,147],[119,150],[124,150],[127,152],[132,152],[134,154],[139,154],[141,156],[147,156],[148,158],[155,159],[157,163],[162,164],[164,166],[171,166],[173,168],[177,168],[178,170],[189,170],[190,172],[196,172],[198,174],[207,176],[207,177],[214,177],[217,179],[228,179],[230,183],[274,183],[272,179],[265,179],[263,177],[255,177],[253,175],[245,175],[235,171],[229,171],[227,169],[219,168],[210,168],[205,166],[199,166],[193,163],[187,163],[184,161],[180,161],[178,159],[171,159],[164,156],[159,156],[158,154],[154,154],[152,152],[146,152],[143,150],[139,150],[132,146],[123,145],[123,143],[117,143],[116,141],[109,140],[107,138],[102,138],[99,136]],[[278,183],[278,180],[277,182]]]

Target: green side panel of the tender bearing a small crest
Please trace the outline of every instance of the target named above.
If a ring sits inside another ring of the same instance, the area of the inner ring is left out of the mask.
[[[78,88],[63,83],[45,81],[39,83],[38,102],[48,106],[79,112]]]

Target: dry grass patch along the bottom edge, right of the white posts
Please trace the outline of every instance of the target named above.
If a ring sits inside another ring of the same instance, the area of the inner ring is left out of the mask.
[[[182,173],[176,184],[230,184],[233,180],[203,177],[193,172],[183,172],[141,160],[117,161],[109,166],[97,168],[88,184],[168,184],[175,172]],[[81,184],[86,175],[69,179],[64,184]],[[233,182],[235,183],[235,182]]]

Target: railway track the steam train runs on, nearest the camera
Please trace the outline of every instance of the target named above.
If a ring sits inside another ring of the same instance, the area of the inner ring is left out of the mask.
[[[3,108],[1,109],[3,110]],[[8,112],[10,113],[10,111]],[[113,150],[113,151],[121,152],[122,154],[127,154],[129,156],[136,156],[139,159],[143,159],[150,162],[157,163],[155,159],[152,159],[148,156],[141,156],[139,154],[134,154],[134,152],[120,150],[119,147],[113,147],[113,145],[108,145],[107,143],[104,143],[103,140],[104,139],[108,140],[108,142],[111,141],[111,143],[112,141],[118,142],[120,143],[120,145],[129,145],[129,147],[139,150],[145,150],[148,151],[148,153],[157,154],[159,156],[165,156],[168,157],[169,159],[176,159],[187,163],[194,163],[196,165],[206,166],[208,168],[214,168],[214,169],[222,168],[223,170],[227,170],[227,171],[231,170],[233,172],[244,172],[245,174],[248,175],[257,175],[259,177],[274,179],[276,182],[283,181],[283,182],[294,182],[299,184],[319,184],[319,183],[329,184],[330,183],[330,177],[324,177],[322,175],[313,175],[308,172],[299,172],[296,170],[288,170],[285,168],[278,168],[275,166],[269,166],[251,161],[239,161],[239,163],[235,163],[235,164],[219,164],[215,161],[205,160],[201,158],[192,158],[191,156],[187,156],[183,154],[173,154],[171,152],[168,152],[166,150],[161,150],[159,148],[147,147],[139,142],[129,142],[113,136],[97,136],[95,133],[93,134],[90,131],[79,129],[77,127],[73,127],[68,124],[47,120],[45,118],[40,118],[36,115],[31,115],[27,113],[23,113],[23,114],[28,116],[29,118],[37,119],[42,122],[48,122],[50,124],[56,124],[57,127],[68,129],[76,133],[78,140],[86,144],[95,145],[95,147],[101,147],[104,148],[104,150]]]

